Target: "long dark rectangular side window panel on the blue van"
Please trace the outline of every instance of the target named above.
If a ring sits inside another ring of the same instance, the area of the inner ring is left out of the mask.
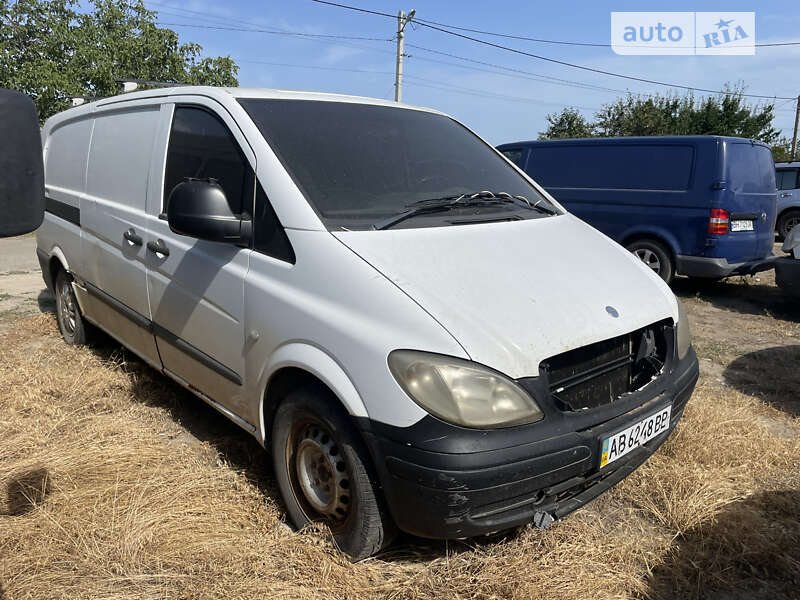
[[[533,147],[528,172],[544,187],[685,190],[692,146],[649,144]]]

